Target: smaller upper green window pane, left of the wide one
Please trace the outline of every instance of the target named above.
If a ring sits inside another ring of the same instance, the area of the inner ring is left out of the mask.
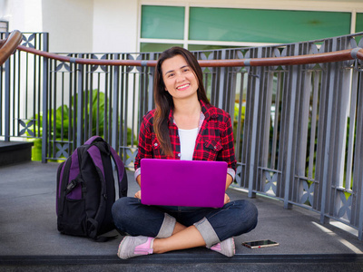
[[[142,38],[184,38],[183,6],[142,5]]]

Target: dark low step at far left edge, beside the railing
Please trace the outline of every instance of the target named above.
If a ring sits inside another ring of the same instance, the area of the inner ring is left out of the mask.
[[[33,142],[0,141],[0,166],[32,160]]]

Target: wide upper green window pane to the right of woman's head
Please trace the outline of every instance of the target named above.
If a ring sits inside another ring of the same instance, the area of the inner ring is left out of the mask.
[[[189,39],[293,43],[350,34],[350,13],[191,7]]]

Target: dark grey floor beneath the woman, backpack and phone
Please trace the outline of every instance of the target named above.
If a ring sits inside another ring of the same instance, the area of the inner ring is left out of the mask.
[[[121,236],[105,243],[61,235],[56,228],[55,183],[58,163],[32,161],[0,167],[0,271],[61,270],[108,271],[120,267],[153,269],[240,271],[363,271],[363,242],[354,229],[321,225],[319,214],[299,207],[283,209],[279,200],[250,199],[259,209],[259,224],[235,238],[236,256],[223,257],[207,248],[121,260],[116,251]],[[129,196],[138,189],[128,171]],[[247,194],[229,189],[231,199]],[[115,233],[115,232],[113,232]],[[250,249],[243,241],[272,239],[273,248]],[[177,265],[176,265],[177,264]],[[101,267],[100,267],[101,266]],[[3,269],[2,269],[3,268]],[[101,269],[102,268],[102,269]],[[55,269],[56,270],[56,269]]]

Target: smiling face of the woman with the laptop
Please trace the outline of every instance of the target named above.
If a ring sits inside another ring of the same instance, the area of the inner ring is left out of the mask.
[[[198,99],[198,80],[189,64],[182,55],[177,54],[162,63],[162,79],[165,91],[172,95],[173,100]]]

